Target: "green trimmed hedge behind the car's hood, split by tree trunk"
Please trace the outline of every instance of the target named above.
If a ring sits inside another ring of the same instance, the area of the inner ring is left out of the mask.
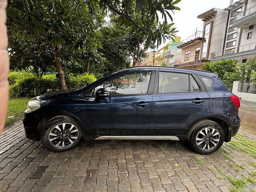
[[[10,72],[9,94],[11,98],[34,97],[47,92],[59,90],[56,75],[43,75],[41,78],[27,72]],[[82,87],[96,81],[93,74],[82,74],[69,77],[70,88]]]

